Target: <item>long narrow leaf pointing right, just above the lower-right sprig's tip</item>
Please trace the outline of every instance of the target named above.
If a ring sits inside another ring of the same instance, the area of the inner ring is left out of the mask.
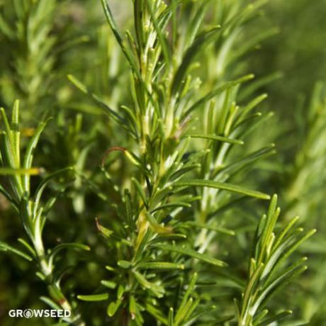
[[[235,193],[242,193],[247,196],[259,198],[259,199],[269,199],[270,196],[266,193],[261,193],[259,191],[254,191],[250,189],[242,188],[241,186],[237,186],[235,184],[227,184],[224,182],[218,182],[213,180],[202,180],[202,179],[190,179],[184,181],[176,181],[173,185],[174,187],[191,187],[191,186],[201,186],[208,188],[215,188],[221,190],[232,191]]]

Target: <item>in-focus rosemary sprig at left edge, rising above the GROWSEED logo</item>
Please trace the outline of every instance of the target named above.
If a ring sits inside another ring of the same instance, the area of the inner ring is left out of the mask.
[[[1,108],[1,115],[4,123],[4,130],[1,133],[1,174],[5,174],[9,179],[7,187],[1,186],[1,193],[9,200],[13,208],[18,212],[23,227],[28,236],[28,241],[19,238],[18,241],[24,249],[17,249],[4,242],[0,242],[0,250],[12,252],[32,262],[38,263],[38,277],[47,283],[50,298],[42,297],[52,308],[72,310],[72,305],[64,296],[61,290],[60,281],[62,275],[55,271],[57,254],[62,249],[89,250],[86,245],[78,243],[62,243],[56,247],[45,250],[43,243],[43,229],[48,213],[55,204],[57,194],[47,198],[43,203],[43,192],[47,184],[60,174],[69,171],[62,169],[53,174],[49,174],[35,191],[30,186],[30,176],[43,173],[42,169],[33,167],[33,154],[38,144],[47,121],[42,122],[35,129],[33,137],[28,142],[26,153],[21,153],[21,132],[19,130],[19,103],[15,102],[11,116],[11,123],[6,116],[4,108]],[[61,187],[60,192],[64,190]],[[76,325],[84,325],[79,320],[79,315],[72,314],[71,319],[67,322],[74,322]]]

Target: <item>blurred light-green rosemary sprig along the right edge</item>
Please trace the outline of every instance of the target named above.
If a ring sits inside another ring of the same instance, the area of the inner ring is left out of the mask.
[[[296,124],[289,128],[296,128],[295,137],[300,139],[300,145],[291,147],[293,159],[284,159],[286,168],[279,178],[279,189],[286,204],[284,213],[289,220],[291,215],[303,213],[303,217],[309,219],[309,224],[316,227],[319,232],[313,242],[308,242],[305,252],[309,252],[313,259],[310,267],[313,270],[313,278],[307,277],[304,286],[305,302],[298,300],[302,305],[302,320],[310,320],[317,325],[323,319],[321,306],[325,302],[323,290],[322,269],[325,264],[325,240],[323,231],[325,223],[320,215],[324,210],[322,198],[325,194],[325,95],[324,86],[317,83],[309,101],[301,99],[296,113]],[[305,205],[303,205],[305,203]],[[310,283],[311,282],[311,283]],[[305,282],[304,282],[305,283]],[[317,285],[318,284],[318,285]],[[313,291],[313,293],[312,293]],[[317,294],[318,293],[318,294]],[[315,298],[318,297],[318,300]]]

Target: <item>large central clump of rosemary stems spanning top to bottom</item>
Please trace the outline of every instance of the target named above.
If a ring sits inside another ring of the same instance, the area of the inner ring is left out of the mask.
[[[225,262],[205,252],[216,232],[234,235],[216,223],[215,215],[247,196],[269,199],[264,193],[228,181],[274,152],[274,145],[269,145],[241,159],[229,160],[233,147],[242,146],[242,138],[262,120],[262,113],[252,111],[265,95],[241,108],[236,104],[239,86],[252,79],[251,74],[233,81],[222,79],[205,92],[192,71],[204,47],[212,43],[226,47],[225,33],[229,35],[241,22],[255,16],[261,3],[243,11],[237,8],[223,17],[224,25],[201,30],[208,2],[172,1],[167,5],[164,1],[134,1],[134,29],[125,33],[126,40],[110,6],[106,1],[102,4],[130,64],[133,102],[117,111],[76,77],[69,75],[69,79],[125,129],[133,142],[129,147],[110,147],[103,155],[103,174],[118,198],[111,204],[116,218],[108,226],[96,220],[110,248],[106,265],[110,276],[101,281],[102,288],[96,293],[78,298],[109,300],[107,315],[114,325],[143,325],[151,320],[146,315],[164,325],[191,325],[213,308],[212,298],[203,300],[200,293],[193,292],[203,269],[193,259],[223,268]],[[184,12],[191,13],[193,21],[186,23]],[[184,21],[184,30],[178,29],[177,21]],[[172,28],[171,38],[168,28]],[[220,64],[226,71],[227,64]],[[198,132],[200,125],[195,117],[201,108],[206,108],[206,113],[203,131]],[[191,141],[196,139],[206,140],[200,143],[204,147]],[[106,164],[114,152],[123,154],[130,166],[125,184],[114,180]],[[193,202],[198,202],[195,210]],[[167,275],[164,270],[171,272]]]

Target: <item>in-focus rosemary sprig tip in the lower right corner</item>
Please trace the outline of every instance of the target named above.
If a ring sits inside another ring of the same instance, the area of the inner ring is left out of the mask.
[[[292,313],[291,310],[284,310],[274,317],[266,318],[268,310],[263,308],[276,291],[307,269],[303,264],[306,257],[290,266],[284,267],[282,263],[302,242],[313,235],[315,230],[303,233],[302,228],[294,227],[298,218],[293,218],[279,235],[275,235],[274,228],[280,213],[276,205],[275,195],[267,215],[263,215],[257,227],[254,237],[254,257],[249,264],[249,279],[242,294],[241,308],[238,308],[239,325],[269,325]]]

